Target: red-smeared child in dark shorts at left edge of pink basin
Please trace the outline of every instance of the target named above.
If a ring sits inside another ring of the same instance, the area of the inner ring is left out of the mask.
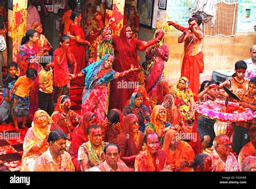
[[[204,89],[201,93],[203,93],[201,102],[216,100],[216,98],[219,96],[219,82],[209,82],[206,89]],[[212,142],[215,137],[213,129],[214,123],[215,120],[208,119],[204,116],[201,116],[198,119],[197,130],[201,138],[202,150],[205,150],[206,147],[212,146]]]

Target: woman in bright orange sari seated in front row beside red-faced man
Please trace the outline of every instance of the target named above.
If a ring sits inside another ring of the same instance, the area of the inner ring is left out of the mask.
[[[185,141],[179,139],[179,133],[169,130],[165,134],[163,150],[167,153],[167,164],[173,171],[192,171],[194,151]]]

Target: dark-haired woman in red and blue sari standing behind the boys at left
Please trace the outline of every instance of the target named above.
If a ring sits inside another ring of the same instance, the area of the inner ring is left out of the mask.
[[[37,71],[37,75],[41,71],[41,67],[38,63],[38,57],[42,56],[42,52],[38,51],[38,48],[35,44],[38,42],[39,36],[37,31],[28,30],[26,31],[26,35],[22,38],[21,45],[19,47],[19,56],[17,59],[18,69],[19,69],[19,77],[26,75],[26,69],[33,68]],[[29,117],[30,121],[33,120],[33,114],[38,109],[38,84],[39,77],[36,77],[34,81],[34,85],[32,86],[30,93],[30,107],[29,107]]]

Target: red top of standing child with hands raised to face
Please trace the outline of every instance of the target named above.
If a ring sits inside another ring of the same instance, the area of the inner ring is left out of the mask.
[[[63,57],[63,52],[60,48],[56,49],[53,53],[53,57],[58,56],[61,60]],[[57,65],[56,59],[54,59],[54,76],[53,83],[55,86],[65,86],[70,83],[69,78],[69,67],[68,67],[68,58],[65,57],[63,64],[60,66]]]

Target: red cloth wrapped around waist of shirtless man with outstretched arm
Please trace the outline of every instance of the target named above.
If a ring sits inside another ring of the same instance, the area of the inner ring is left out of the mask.
[[[199,73],[204,71],[204,54],[199,52],[195,56],[184,55],[181,68],[181,77],[185,76],[190,82],[188,87],[192,90],[194,96],[198,96],[200,77]]]

